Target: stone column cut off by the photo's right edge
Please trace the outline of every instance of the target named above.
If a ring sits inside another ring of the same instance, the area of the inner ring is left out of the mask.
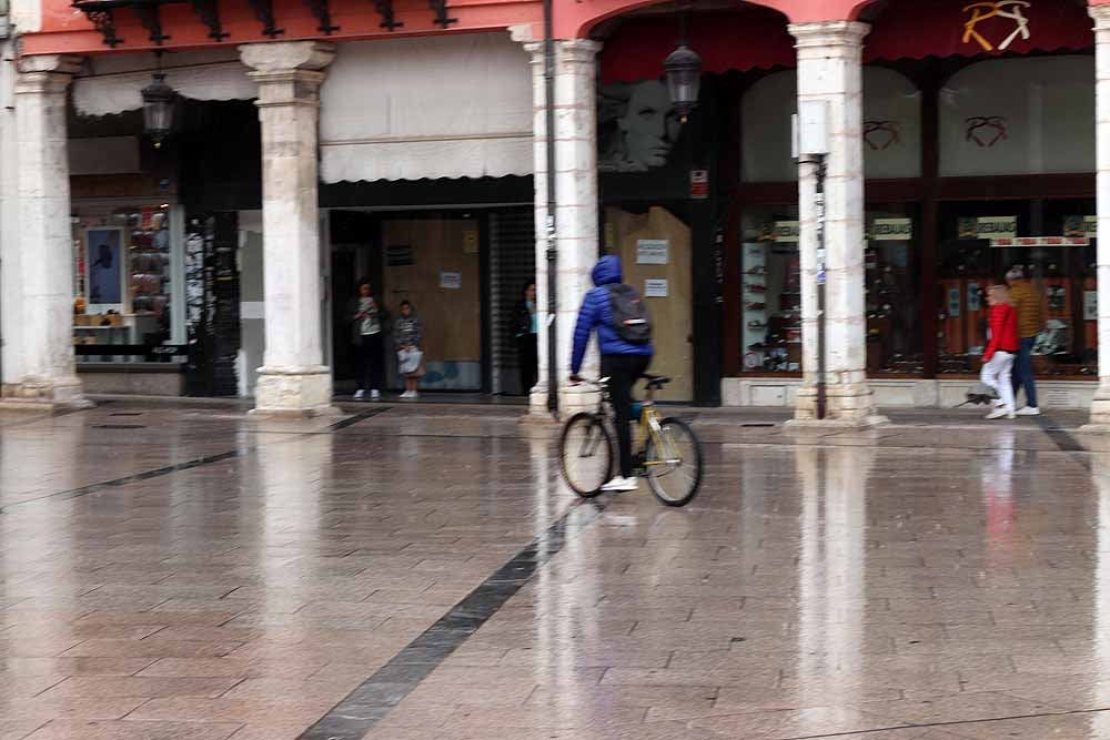
[[[1094,19],[1096,162],[1098,168],[1099,389],[1086,430],[1110,432],[1110,6],[1092,6]]]

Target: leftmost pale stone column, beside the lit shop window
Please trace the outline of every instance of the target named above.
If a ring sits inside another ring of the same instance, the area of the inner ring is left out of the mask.
[[[81,59],[24,57],[16,78],[16,224],[4,224],[6,407],[88,406],[73,358],[65,90]]]

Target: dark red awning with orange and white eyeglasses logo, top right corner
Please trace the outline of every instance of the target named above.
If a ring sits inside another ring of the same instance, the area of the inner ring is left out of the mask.
[[[864,39],[864,61],[1028,54],[1094,45],[1073,0],[890,0]]]

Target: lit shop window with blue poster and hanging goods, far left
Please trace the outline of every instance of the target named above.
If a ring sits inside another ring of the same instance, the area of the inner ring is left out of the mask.
[[[73,223],[74,345],[119,345],[81,361],[171,359],[154,348],[172,338],[174,265],[170,207],[87,210]],[[139,348],[142,348],[139,352]]]

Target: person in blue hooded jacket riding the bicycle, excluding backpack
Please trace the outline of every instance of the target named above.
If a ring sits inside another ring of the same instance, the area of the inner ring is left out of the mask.
[[[602,486],[602,490],[636,490],[636,479],[632,477],[632,388],[652,363],[655,349],[649,334],[646,341],[635,337],[629,341],[614,320],[617,301],[638,302],[635,288],[625,285],[620,260],[607,255],[597,261],[591,276],[595,287],[586,293],[578,311],[578,324],[574,330],[574,352],[571,357],[571,382],[581,383],[578,371],[589,344],[589,335],[597,330],[597,345],[602,353],[602,376],[608,377],[609,398],[616,415],[617,447],[620,470],[615,478]],[[649,330],[649,324],[643,327]]]

